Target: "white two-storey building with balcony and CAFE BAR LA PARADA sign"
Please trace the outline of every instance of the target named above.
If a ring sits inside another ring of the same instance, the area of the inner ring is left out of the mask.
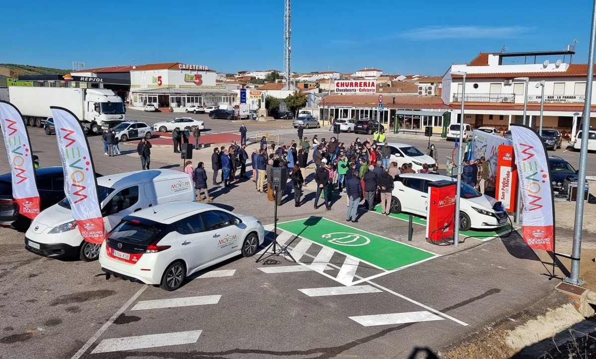
[[[442,100],[452,108],[451,122],[461,117],[462,76],[465,72],[465,119],[475,128],[494,126],[507,130],[510,123],[523,122],[524,98],[527,92],[527,122],[538,128],[541,86],[544,81],[544,127],[570,132],[574,117],[581,116],[585,97],[587,64],[571,63],[573,49],[567,51],[493,53],[481,52],[467,64],[452,64],[442,78]],[[560,57],[558,61],[528,63],[536,57]],[[523,64],[513,63],[513,58]],[[507,64],[512,63],[512,64]],[[528,78],[527,84],[525,79]],[[591,103],[595,103],[592,92]],[[592,106],[591,123],[596,125],[596,107]]]

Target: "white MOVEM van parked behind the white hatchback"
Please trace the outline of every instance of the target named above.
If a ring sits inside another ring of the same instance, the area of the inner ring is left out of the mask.
[[[132,212],[161,203],[195,200],[193,179],[173,169],[99,177],[97,185],[106,232]],[[100,247],[83,241],[68,198],[39,213],[25,233],[25,248],[48,257],[79,256],[83,261],[94,261]]]

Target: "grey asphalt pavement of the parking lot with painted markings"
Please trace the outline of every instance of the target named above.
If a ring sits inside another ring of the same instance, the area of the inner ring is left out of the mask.
[[[127,115],[150,122],[174,114],[129,110]],[[206,121],[213,132],[237,131],[240,124]],[[249,131],[282,131],[290,129],[289,122],[246,124]],[[42,129],[29,132],[42,166],[60,165],[55,137]],[[342,134],[340,140],[355,137]],[[138,169],[134,147],[122,145],[122,156],[108,157],[100,137],[89,143],[97,172]],[[445,151],[452,146],[436,144]],[[156,156],[152,167],[179,168],[179,157],[169,156]],[[0,158],[0,172],[10,171],[5,154]],[[269,230],[268,239],[273,237],[272,202],[252,181],[212,193],[214,205],[256,216]],[[337,196],[329,212],[313,209],[313,197],[306,193],[306,203],[295,208],[287,196],[278,212],[278,240],[297,263],[283,256],[266,263],[239,256],[198,273],[175,292],[105,280],[97,262],[29,253],[23,233],[0,228],[0,357],[406,357],[417,350],[440,351],[532,304],[555,284],[515,234],[469,239],[471,245],[445,253],[424,242],[424,227],[415,227],[408,242],[406,222],[377,213],[361,212],[358,223],[341,227],[344,197]],[[328,233],[333,228],[342,229]],[[347,252],[321,241],[340,242],[338,232],[384,245],[377,252]],[[377,262],[376,253],[389,262]]]

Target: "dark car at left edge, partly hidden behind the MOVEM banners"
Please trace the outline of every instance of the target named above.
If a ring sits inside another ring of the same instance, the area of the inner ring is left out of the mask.
[[[64,171],[61,166],[42,167],[35,170],[41,210],[53,206],[66,197],[64,194]],[[101,177],[95,174],[95,177]],[[0,227],[26,230],[31,219],[18,213],[13,198],[13,181],[10,173],[0,176]]]

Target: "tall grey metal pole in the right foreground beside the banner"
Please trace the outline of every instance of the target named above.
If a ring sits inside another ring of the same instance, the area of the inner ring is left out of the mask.
[[[588,52],[588,74],[586,78],[586,98],[583,101],[582,146],[579,154],[578,197],[575,202],[575,225],[573,225],[573,250],[571,253],[571,274],[565,281],[582,284],[579,279],[579,258],[582,254],[583,200],[585,199],[586,162],[588,159],[588,134],[592,103],[592,76],[594,76],[594,41],[596,37],[596,0],[592,4],[592,26],[590,49]]]

